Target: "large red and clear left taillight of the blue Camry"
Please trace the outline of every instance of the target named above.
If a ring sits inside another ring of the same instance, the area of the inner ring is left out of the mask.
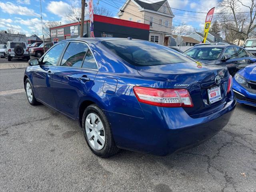
[[[159,89],[134,86],[133,91],[141,103],[160,107],[193,107],[186,89]]]

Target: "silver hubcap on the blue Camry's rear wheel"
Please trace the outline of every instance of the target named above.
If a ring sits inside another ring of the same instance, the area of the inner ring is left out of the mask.
[[[90,113],[85,120],[85,131],[89,144],[96,150],[101,150],[105,145],[105,129],[102,121],[95,113]]]

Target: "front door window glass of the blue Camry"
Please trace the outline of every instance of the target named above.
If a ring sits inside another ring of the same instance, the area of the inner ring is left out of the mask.
[[[58,63],[58,59],[60,55],[62,54],[62,51],[64,50],[66,46],[66,42],[57,44],[54,46],[50,51],[47,52],[47,54],[44,56],[42,60],[43,65],[54,65],[56,66]]]

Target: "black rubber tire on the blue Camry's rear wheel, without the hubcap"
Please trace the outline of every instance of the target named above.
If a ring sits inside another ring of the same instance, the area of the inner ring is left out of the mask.
[[[90,146],[88,138],[86,136],[85,121],[86,121],[86,117],[90,113],[95,113],[96,115],[98,115],[100,120],[102,121],[103,126],[104,126],[106,140],[105,140],[104,147],[101,150],[96,150],[96,149],[92,148]],[[111,130],[110,124],[108,122],[108,119],[106,118],[103,111],[96,104],[92,104],[84,110],[84,114],[83,114],[83,118],[82,118],[82,129],[84,131],[84,138],[86,140],[86,143],[89,146],[90,150],[94,154],[96,154],[99,157],[109,157],[109,156],[112,156],[112,155],[118,153],[119,148],[117,148],[116,143],[114,142],[112,130]]]

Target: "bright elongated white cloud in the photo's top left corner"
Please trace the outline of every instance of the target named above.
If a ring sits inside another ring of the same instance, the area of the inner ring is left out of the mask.
[[[19,15],[26,15],[26,16],[37,16],[40,17],[40,14],[34,12],[34,10],[29,9],[27,7],[23,7],[20,5],[15,5],[11,2],[0,2],[0,8],[3,12],[8,14],[19,14]]]

